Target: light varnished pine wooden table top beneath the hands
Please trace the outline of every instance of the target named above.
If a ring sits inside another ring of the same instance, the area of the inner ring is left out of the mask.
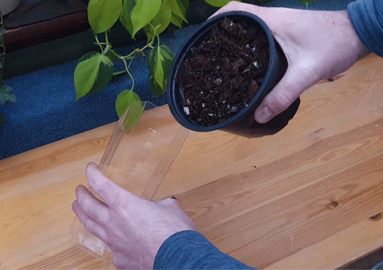
[[[176,195],[223,252],[258,268],[333,269],[383,245],[383,60],[302,95],[282,131],[192,133],[156,198]],[[0,161],[0,268],[109,268],[74,247],[74,188],[115,124]]]

